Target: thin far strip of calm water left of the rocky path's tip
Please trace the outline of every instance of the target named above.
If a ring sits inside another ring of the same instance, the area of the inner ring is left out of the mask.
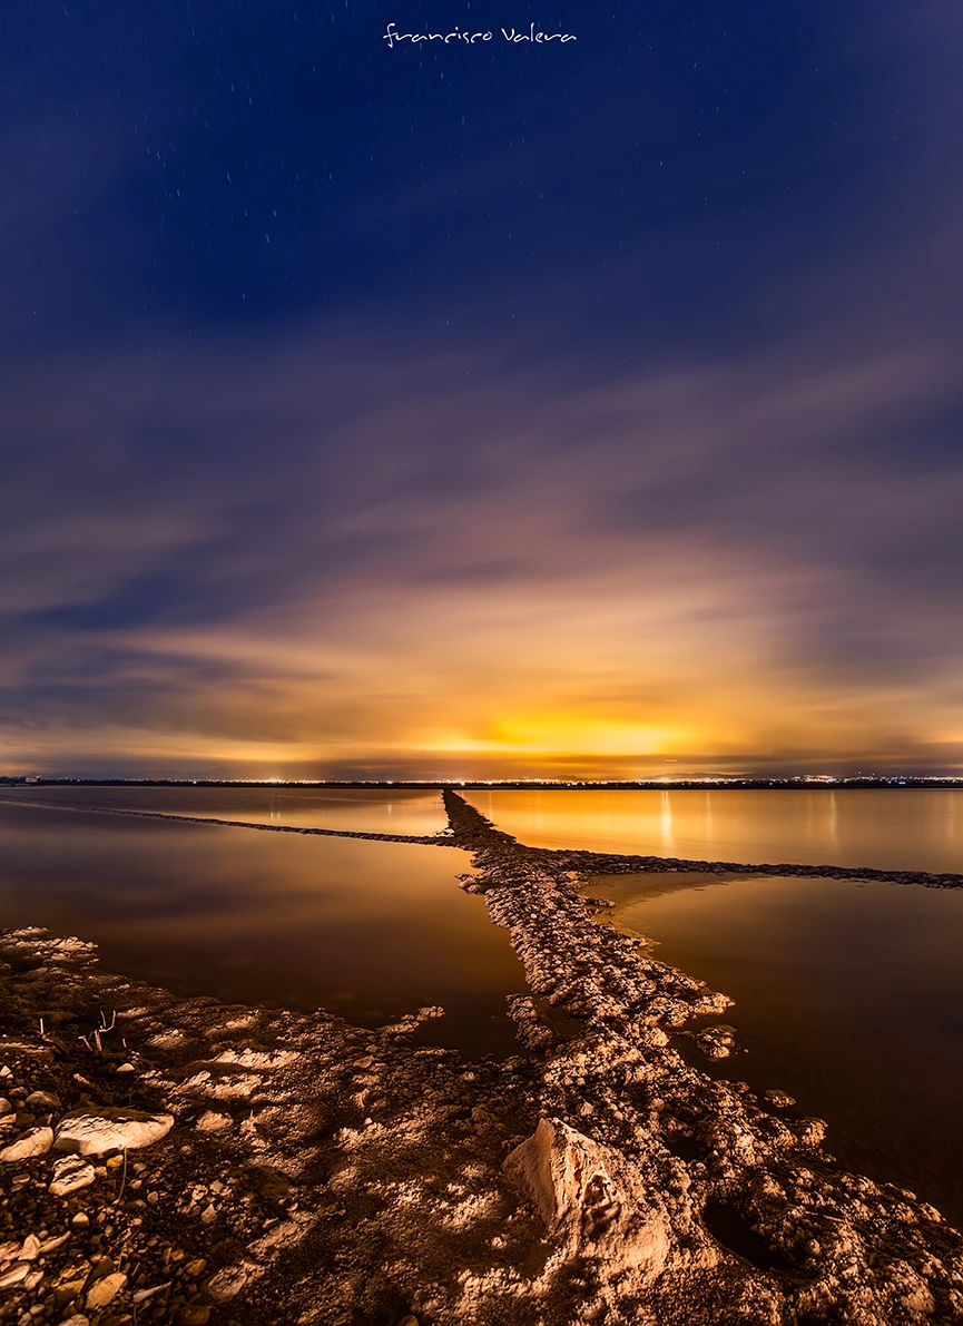
[[[0,788],[0,801],[114,806],[300,829],[423,835],[444,829],[440,792],[348,788]]]

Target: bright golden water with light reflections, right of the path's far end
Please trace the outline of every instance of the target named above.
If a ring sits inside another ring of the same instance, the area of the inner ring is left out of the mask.
[[[535,847],[963,874],[963,790],[466,792]]]

